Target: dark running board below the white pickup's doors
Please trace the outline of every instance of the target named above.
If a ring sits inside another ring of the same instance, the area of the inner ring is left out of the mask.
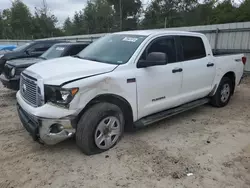
[[[210,102],[209,98],[202,98],[202,99],[190,102],[190,103],[183,104],[183,105],[175,107],[175,108],[171,108],[169,110],[161,111],[161,112],[146,116],[144,118],[139,119],[134,124],[135,124],[135,127],[138,127],[138,128],[145,127],[145,126],[150,125],[152,123],[155,123],[157,121],[166,119],[170,116],[185,112],[187,110],[190,110],[192,108],[196,108],[198,106],[204,105],[204,104],[209,103],[209,102]]]

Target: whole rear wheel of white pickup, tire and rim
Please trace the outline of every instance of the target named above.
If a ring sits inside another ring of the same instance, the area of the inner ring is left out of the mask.
[[[232,80],[228,77],[223,77],[217,88],[215,95],[212,97],[212,105],[216,107],[224,107],[228,104],[233,90]]]

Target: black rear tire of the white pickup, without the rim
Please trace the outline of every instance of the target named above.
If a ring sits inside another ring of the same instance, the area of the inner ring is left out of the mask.
[[[221,91],[222,91],[225,84],[229,85],[230,92],[229,92],[229,97],[227,98],[227,100],[223,101]],[[232,80],[228,77],[223,77],[220,81],[220,84],[217,88],[215,95],[212,97],[211,104],[215,107],[218,107],[218,108],[226,106],[228,104],[228,102],[230,101],[230,98],[232,96],[232,91],[233,91]]]

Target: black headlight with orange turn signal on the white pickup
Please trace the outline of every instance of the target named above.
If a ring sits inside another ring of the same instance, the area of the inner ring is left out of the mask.
[[[45,85],[45,101],[68,107],[78,90],[78,88],[61,88],[59,86]]]

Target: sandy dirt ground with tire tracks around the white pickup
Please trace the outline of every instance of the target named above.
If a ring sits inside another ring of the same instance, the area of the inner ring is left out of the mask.
[[[250,79],[222,109],[209,105],[85,156],[74,140],[41,146],[20,124],[15,93],[0,86],[0,187],[250,187]],[[188,173],[193,173],[187,176]]]

